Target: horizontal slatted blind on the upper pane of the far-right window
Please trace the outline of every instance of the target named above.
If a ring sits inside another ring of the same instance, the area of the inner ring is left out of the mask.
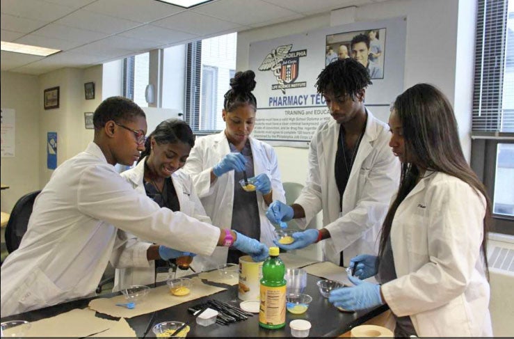
[[[514,132],[514,34],[508,28],[508,2],[478,1],[473,132]]]

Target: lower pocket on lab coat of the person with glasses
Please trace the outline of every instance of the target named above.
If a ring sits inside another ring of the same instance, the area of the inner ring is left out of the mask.
[[[45,272],[35,267],[24,283],[19,286],[20,306],[25,310],[33,310],[61,302],[63,290],[51,281]],[[15,292],[16,293],[16,292]]]

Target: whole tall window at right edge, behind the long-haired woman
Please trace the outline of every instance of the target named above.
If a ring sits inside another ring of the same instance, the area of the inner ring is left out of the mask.
[[[492,198],[493,231],[514,234],[514,0],[479,0],[472,167]]]

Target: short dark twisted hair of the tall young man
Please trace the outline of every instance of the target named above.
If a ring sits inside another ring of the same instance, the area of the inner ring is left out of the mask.
[[[371,84],[368,70],[353,58],[345,58],[328,64],[314,86],[318,93],[350,95],[355,100],[355,95]]]

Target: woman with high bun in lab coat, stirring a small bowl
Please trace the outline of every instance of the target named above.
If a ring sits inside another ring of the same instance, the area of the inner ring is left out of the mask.
[[[225,130],[198,138],[184,171],[194,180],[195,189],[207,215],[216,226],[232,225],[248,237],[273,246],[274,226],[266,219],[268,204],[285,201],[278,161],[273,148],[252,138],[257,100],[252,94],[255,73],[237,72],[225,93]],[[243,191],[239,180],[243,171],[257,179],[256,191]],[[239,262],[241,253],[230,250],[228,262]],[[196,261],[196,260],[195,260]],[[227,262],[226,249],[218,249],[205,267]],[[214,266],[216,267],[216,266]]]

